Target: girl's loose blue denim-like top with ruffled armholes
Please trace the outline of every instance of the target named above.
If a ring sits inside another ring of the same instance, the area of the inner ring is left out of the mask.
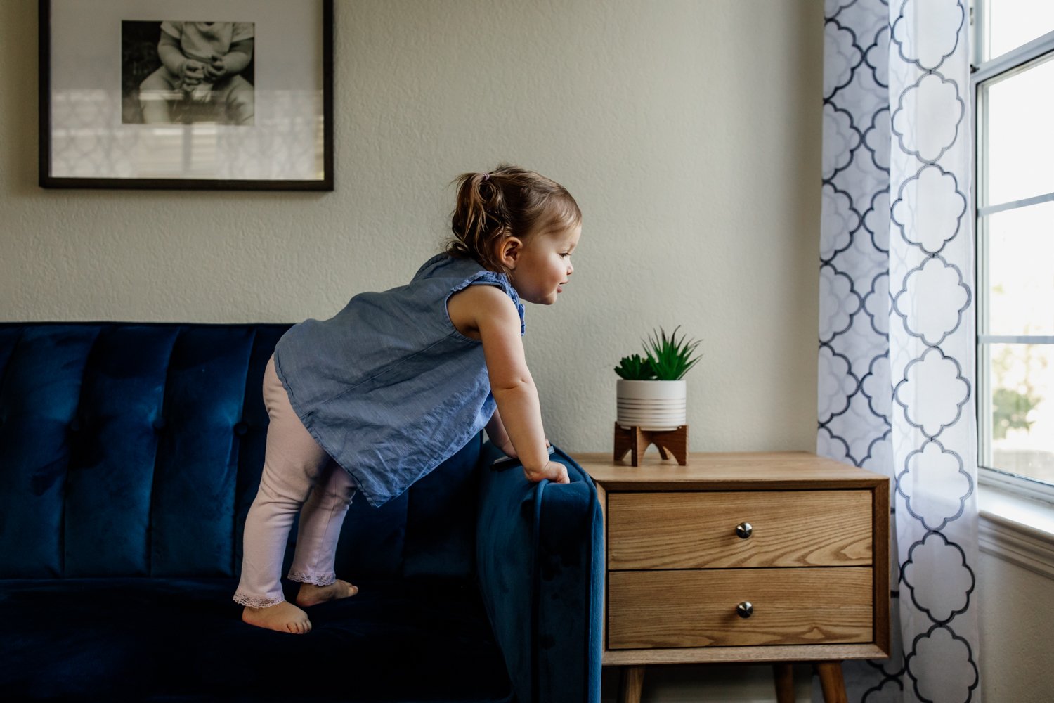
[[[360,293],[278,340],[275,371],[293,409],[370,505],[403,493],[494,413],[483,343],[447,313],[453,293],[477,285],[512,298],[523,334],[524,308],[505,274],[440,254],[406,286]]]

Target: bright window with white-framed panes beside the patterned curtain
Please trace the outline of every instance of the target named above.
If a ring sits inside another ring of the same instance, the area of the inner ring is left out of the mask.
[[[1054,500],[1054,1],[973,5],[978,461]]]

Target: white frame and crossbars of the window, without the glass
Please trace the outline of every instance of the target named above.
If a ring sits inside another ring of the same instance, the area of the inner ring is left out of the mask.
[[[983,314],[982,305],[987,305],[987,293],[983,292],[988,291],[987,272],[984,267],[981,266],[981,261],[983,261],[987,256],[988,246],[988,236],[982,217],[984,215],[991,215],[1003,210],[1024,208],[1031,204],[1054,200],[1054,193],[1047,193],[1013,202],[994,203],[984,208],[980,208],[977,204],[980,202],[980,174],[984,165],[982,159],[985,151],[981,148],[982,144],[980,143],[980,138],[983,138],[984,135],[983,124],[987,118],[987,104],[984,104],[980,99],[981,84],[996,77],[1004,77],[1013,75],[1014,73],[1019,73],[1026,67],[1032,65],[1034,62],[1054,54],[1054,32],[1050,32],[1001,56],[993,57],[987,61],[982,60],[984,56],[983,42],[985,41],[984,25],[988,17],[987,4],[988,0],[973,0],[973,6],[970,11],[974,39],[970,86],[974,98],[973,136],[975,169],[972,188],[974,198],[974,232],[977,245],[977,277],[975,287],[975,291],[977,292],[975,300],[977,301],[976,311],[978,323],[978,333],[976,339],[977,377],[975,384],[975,389],[977,391],[977,457],[979,465],[977,477],[978,483],[982,488],[994,489],[995,491],[1001,493],[1009,493],[1019,497],[1024,497],[1030,502],[1038,502],[1046,505],[1051,510],[1054,510],[1054,486],[1029,479],[1027,476],[1001,471],[994,467],[983,466],[983,457],[985,456],[984,448],[987,443],[991,442],[992,436],[992,396],[990,392],[991,383],[989,379],[990,345],[998,343],[1054,344],[1054,336],[990,335],[982,334],[980,330],[980,320],[981,315]],[[1054,398],[1052,398],[1052,401],[1054,401]]]

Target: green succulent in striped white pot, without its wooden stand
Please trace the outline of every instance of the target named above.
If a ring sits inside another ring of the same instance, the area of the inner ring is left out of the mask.
[[[644,343],[644,356],[624,356],[614,372],[617,423],[629,429],[667,431],[687,423],[687,384],[684,374],[698,362],[699,343],[679,339],[677,331],[666,335],[659,328]]]

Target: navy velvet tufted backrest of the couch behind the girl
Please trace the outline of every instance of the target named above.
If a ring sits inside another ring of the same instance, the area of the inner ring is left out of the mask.
[[[0,578],[237,577],[288,328],[0,325]],[[382,508],[354,500],[338,573],[470,577],[481,437]]]

